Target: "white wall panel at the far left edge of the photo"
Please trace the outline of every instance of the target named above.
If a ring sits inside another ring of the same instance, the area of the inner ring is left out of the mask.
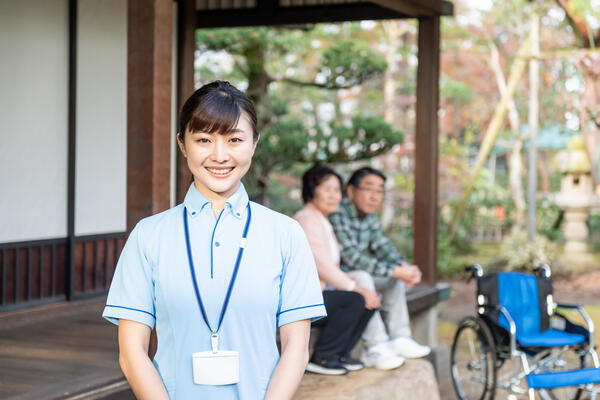
[[[67,235],[68,1],[0,2],[0,243]]]

